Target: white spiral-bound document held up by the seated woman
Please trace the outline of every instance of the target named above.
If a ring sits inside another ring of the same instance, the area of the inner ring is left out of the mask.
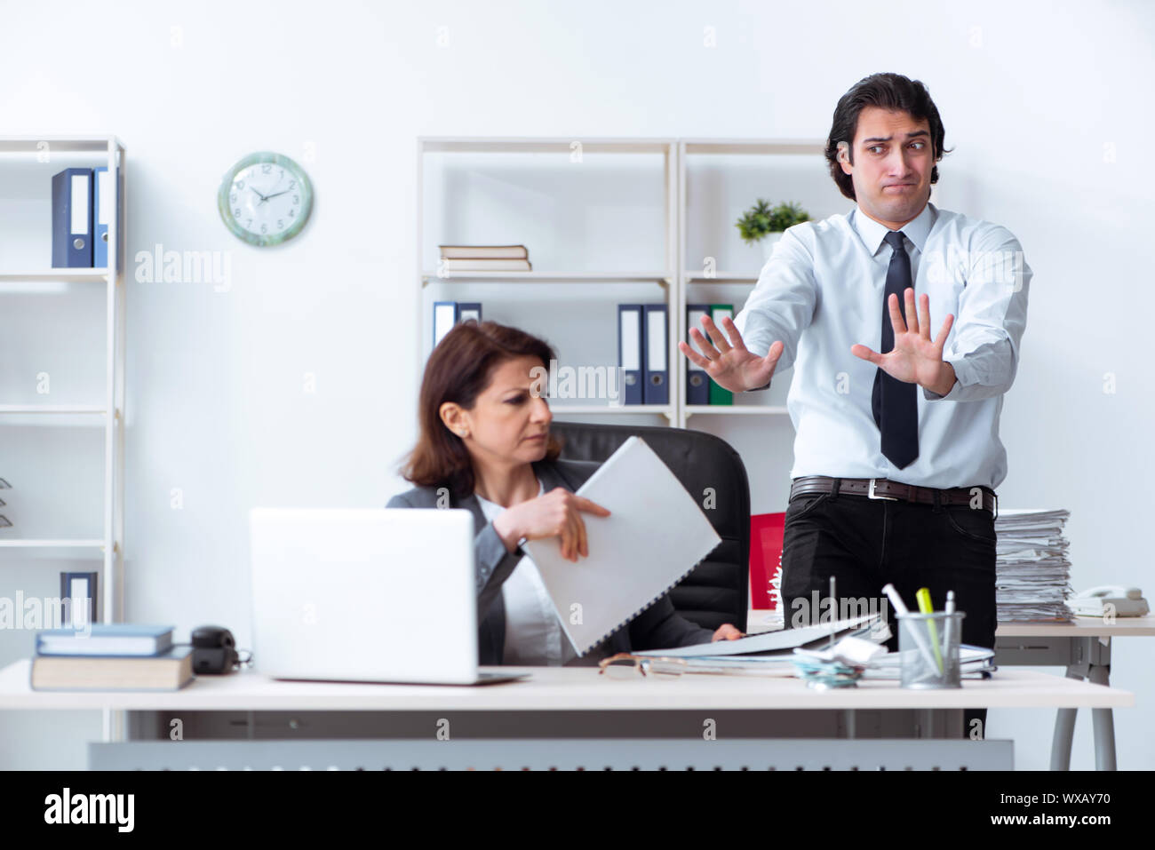
[[[582,513],[589,557],[561,557],[557,537],[526,543],[574,651],[660,599],[722,542],[694,498],[654,449],[631,437],[578,495],[610,516]]]

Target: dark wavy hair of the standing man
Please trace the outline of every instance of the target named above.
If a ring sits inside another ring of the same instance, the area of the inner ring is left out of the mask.
[[[871,74],[863,77],[845,95],[839,98],[834,107],[834,120],[830,124],[830,135],[826,140],[826,162],[830,167],[830,177],[837,184],[839,191],[851,201],[855,197],[855,184],[850,174],[842,171],[839,164],[839,142],[845,142],[850,164],[855,164],[855,132],[858,129],[858,113],[863,106],[878,106],[889,111],[907,112],[916,121],[926,120],[930,124],[932,154],[934,162],[942,158],[942,119],[938,107],[931,99],[931,94],[918,80],[910,80],[902,74]],[[931,182],[938,182],[938,165],[931,169]]]

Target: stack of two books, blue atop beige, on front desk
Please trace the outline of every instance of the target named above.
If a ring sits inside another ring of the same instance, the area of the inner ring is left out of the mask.
[[[172,626],[94,624],[36,636],[33,691],[177,691],[193,679],[193,649]]]

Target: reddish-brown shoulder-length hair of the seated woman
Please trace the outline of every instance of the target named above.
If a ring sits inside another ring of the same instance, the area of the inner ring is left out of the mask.
[[[536,357],[550,368],[557,359],[549,343],[517,328],[469,320],[455,326],[425,364],[417,402],[417,446],[401,469],[405,480],[423,487],[448,486],[455,498],[474,492],[474,464],[460,437],[441,422],[441,405],[456,402],[472,410],[490,386],[493,370],[517,357]],[[561,443],[552,433],[545,458],[557,460]]]

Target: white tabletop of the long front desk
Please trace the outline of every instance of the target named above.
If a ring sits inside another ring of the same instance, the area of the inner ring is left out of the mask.
[[[485,668],[529,671],[524,681],[472,687],[275,681],[253,671],[199,677],[180,691],[49,692],[29,686],[31,662],[0,670],[0,709],[127,710],[657,710],[1127,708],[1127,691],[1061,676],[1003,669],[962,688],[908,691],[897,681],[815,691],[785,677],[684,674],[606,679],[594,668]]]

